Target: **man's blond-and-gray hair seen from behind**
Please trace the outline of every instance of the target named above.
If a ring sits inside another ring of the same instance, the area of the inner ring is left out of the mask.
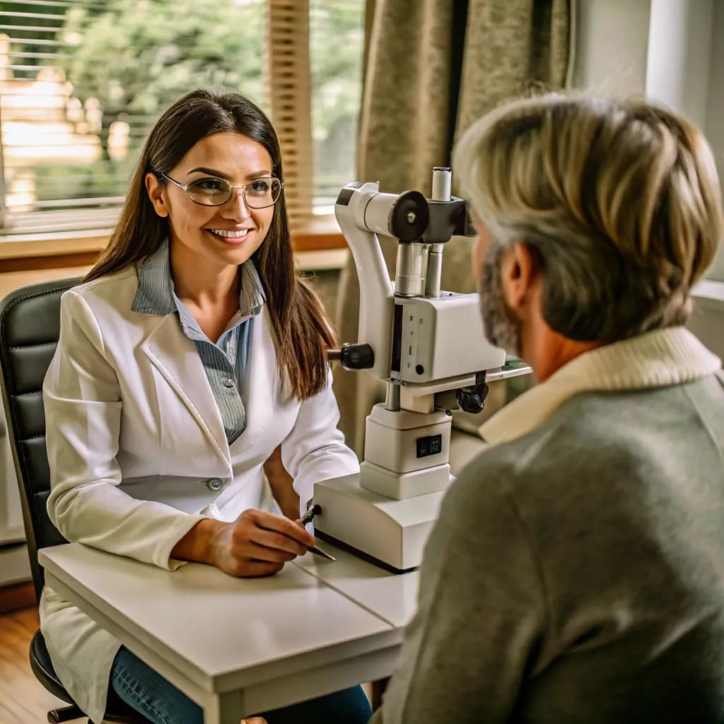
[[[455,174],[497,243],[539,259],[543,315],[571,340],[683,324],[724,230],[712,151],[644,101],[550,94],[480,119]]]

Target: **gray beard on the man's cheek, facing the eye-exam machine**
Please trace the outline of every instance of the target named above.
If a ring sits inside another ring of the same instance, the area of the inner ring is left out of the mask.
[[[500,347],[509,355],[521,353],[521,321],[505,303],[500,280],[500,262],[505,247],[494,242],[483,264],[478,285],[483,333],[490,344]]]

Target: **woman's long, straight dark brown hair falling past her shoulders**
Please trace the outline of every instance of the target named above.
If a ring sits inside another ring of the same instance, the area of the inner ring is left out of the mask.
[[[85,281],[136,264],[159,248],[169,225],[153,210],[146,174],[170,173],[199,140],[221,132],[241,133],[261,143],[271,157],[272,173],[284,180],[277,134],[256,104],[237,93],[193,90],[171,106],[148,135],[109,245]],[[279,370],[292,395],[306,400],[327,385],[327,348],[335,340],[319,298],[295,271],[283,194],[266,239],[252,258],[266,294]]]

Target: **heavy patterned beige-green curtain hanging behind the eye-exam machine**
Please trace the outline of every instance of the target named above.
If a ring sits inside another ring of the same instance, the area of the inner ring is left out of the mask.
[[[366,75],[358,180],[380,190],[431,191],[432,167],[447,166],[461,132],[531,86],[563,88],[572,67],[575,0],[368,0]],[[455,169],[452,169],[453,179]],[[396,245],[381,240],[390,274]],[[442,288],[474,290],[471,240],[451,240]],[[357,340],[359,285],[342,271],[337,331]],[[363,372],[334,371],[340,426],[363,450],[364,418],[384,387]]]

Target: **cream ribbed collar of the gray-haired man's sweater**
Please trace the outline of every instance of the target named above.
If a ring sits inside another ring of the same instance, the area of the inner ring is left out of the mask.
[[[694,382],[721,369],[720,358],[684,327],[647,332],[579,355],[480,426],[497,444],[532,432],[581,392],[623,392]]]

